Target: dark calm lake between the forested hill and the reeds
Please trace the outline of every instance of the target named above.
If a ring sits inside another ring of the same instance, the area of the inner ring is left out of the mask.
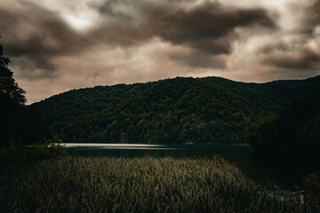
[[[299,185],[302,177],[320,170],[315,159],[288,156],[260,156],[243,144],[63,144],[68,154],[112,157],[212,158],[219,154],[244,171],[247,177],[264,185]]]

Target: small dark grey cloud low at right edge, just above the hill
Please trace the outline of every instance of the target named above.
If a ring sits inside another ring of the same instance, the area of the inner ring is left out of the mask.
[[[296,54],[284,52],[268,55],[263,59],[263,63],[289,69],[316,69],[320,64],[320,54],[309,49],[299,51]]]

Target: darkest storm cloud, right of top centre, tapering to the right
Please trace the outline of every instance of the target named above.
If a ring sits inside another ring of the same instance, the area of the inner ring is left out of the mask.
[[[238,27],[276,27],[266,11],[228,8],[218,2],[204,3],[190,11],[160,13],[160,17],[153,15],[150,18],[148,25],[156,36],[208,54],[230,53]]]

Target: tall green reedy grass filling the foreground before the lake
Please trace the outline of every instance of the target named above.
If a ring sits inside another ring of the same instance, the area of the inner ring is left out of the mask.
[[[219,157],[62,157],[0,174],[0,212],[316,212]]]

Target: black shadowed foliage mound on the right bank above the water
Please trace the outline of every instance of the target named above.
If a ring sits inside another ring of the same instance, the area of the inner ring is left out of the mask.
[[[253,123],[246,140],[258,152],[320,154],[320,97],[309,97]]]

